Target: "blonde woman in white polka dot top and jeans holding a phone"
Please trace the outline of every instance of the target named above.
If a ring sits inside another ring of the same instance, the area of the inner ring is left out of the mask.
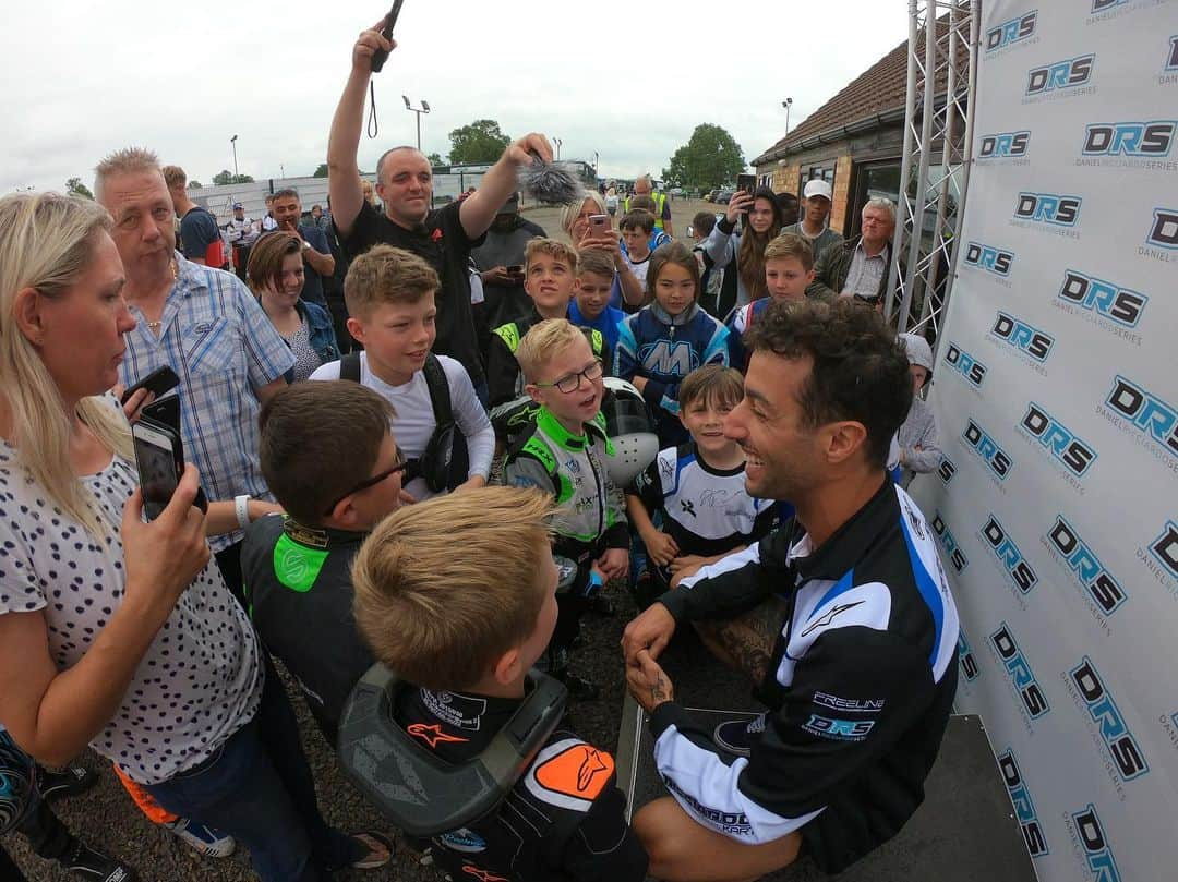
[[[0,724],[49,764],[90,745],[164,808],[236,836],[264,880],[326,878],[371,843],[319,816],[282,684],[210,562],[206,533],[236,528],[233,504],[206,518],[188,465],[144,523],[107,393],[135,324],[124,285],[144,276],[120,250],[171,284],[155,211],[114,205],[112,225],[88,200],[0,199]]]

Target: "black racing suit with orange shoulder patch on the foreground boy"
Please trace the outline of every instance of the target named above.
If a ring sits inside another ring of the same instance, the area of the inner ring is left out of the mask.
[[[518,701],[404,689],[393,717],[444,762],[477,756]],[[556,731],[489,816],[434,837],[435,862],[455,882],[641,882],[647,854],[626,823],[614,758]]]

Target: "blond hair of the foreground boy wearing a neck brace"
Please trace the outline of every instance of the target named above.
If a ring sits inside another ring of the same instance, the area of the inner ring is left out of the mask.
[[[377,659],[425,689],[478,683],[536,630],[551,515],[550,496],[495,486],[380,522],[352,564],[356,624]]]

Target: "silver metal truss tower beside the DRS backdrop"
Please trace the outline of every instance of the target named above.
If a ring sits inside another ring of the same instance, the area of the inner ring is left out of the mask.
[[[904,159],[886,314],[939,340],[973,148],[981,0],[908,0]],[[933,39],[926,39],[932,34]],[[937,343],[934,341],[934,347]]]

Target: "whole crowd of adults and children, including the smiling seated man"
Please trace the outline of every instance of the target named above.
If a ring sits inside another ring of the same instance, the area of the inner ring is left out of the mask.
[[[928,343],[880,310],[894,206],[845,243],[823,181],[800,220],[741,192],[689,246],[640,179],[564,206],[558,240],[519,217],[517,170],[552,160],[529,134],[437,210],[426,158],[386,151],[378,211],[356,154],[392,48],[353,47],[330,215],[283,190],[221,231],[141,148],[98,164],[94,201],[0,199],[0,760],[26,782],[0,821],[134,878],[48,809],[92,783],[88,747],[146,818],[263,880],[382,867],[390,831],[324,821],[276,661],[331,743],[389,665],[415,687],[397,723],[462,763],[534,667],[596,699],[570,649],[629,590],[618,664],[669,796],[627,823],[608,752],[561,728],[492,814],[412,844],[456,878],[842,869],[915,810],[955,688],[902,489],[940,455]],[[649,420],[640,467],[623,406]],[[132,426],[168,412],[187,463],[147,519]],[[765,714],[704,731],[675,703],[657,659],[683,623]],[[2,849],[0,870],[24,877]]]

